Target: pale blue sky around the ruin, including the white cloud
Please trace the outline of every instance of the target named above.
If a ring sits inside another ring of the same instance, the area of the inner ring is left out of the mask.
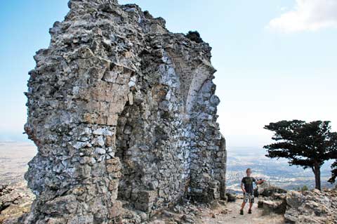
[[[198,30],[211,44],[227,147],[270,143],[263,126],[281,119],[330,120],[337,130],[336,0],[119,3],[164,18],[171,32]],[[27,72],[67,0],[0,1],[0,8],[0,140],[25,140]]]

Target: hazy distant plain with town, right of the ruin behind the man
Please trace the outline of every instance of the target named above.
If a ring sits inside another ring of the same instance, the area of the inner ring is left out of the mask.
[[[303,186],[315,188],[315,177],[311,169],[289,166],[286,159],[265,157],[263,148],[228,148],[227,149],[227,191],[242,192],[240,183],[247,168],[253,169],[254,178],[263,178],[273,185],[286,190],[298,190]],[[332,162],[326,162],[321,168],[322,187],[331,188],[327,180],[331,176]]]

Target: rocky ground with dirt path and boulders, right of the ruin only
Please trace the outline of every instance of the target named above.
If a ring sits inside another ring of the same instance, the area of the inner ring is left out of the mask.
[[[253,204],[253,213],[239,215],[242,195],[229,195],[233,202],[213,205],[176,206],[162,211],[150,223],[337,223],[337,189],[289,191],[260,185],[260,196]]]

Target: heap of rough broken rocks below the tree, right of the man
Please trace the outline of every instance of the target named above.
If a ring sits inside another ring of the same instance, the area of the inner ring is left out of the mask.
[[[263,192],[268,195],[258,201],[263,215],[284,214],[287,223],[337,223],[337,189],[286,192],[270,186]]]

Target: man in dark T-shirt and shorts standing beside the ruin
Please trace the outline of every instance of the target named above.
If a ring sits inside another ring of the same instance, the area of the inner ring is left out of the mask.
[[[254,203],[254,189],[253,189],[253,182],[256,184],[263,183],[265,180],[258,180],[256,181],[255,178],[251,177],[251,169],[246,170],[247,176],[242,178],[241,180],[241,189],[244,192],[244,202],[242,202],[242,206],[240,209],[240,215],[244,214],[244,206],[249,201],[249,210],[248,213],[251,214],[251,206]]]

